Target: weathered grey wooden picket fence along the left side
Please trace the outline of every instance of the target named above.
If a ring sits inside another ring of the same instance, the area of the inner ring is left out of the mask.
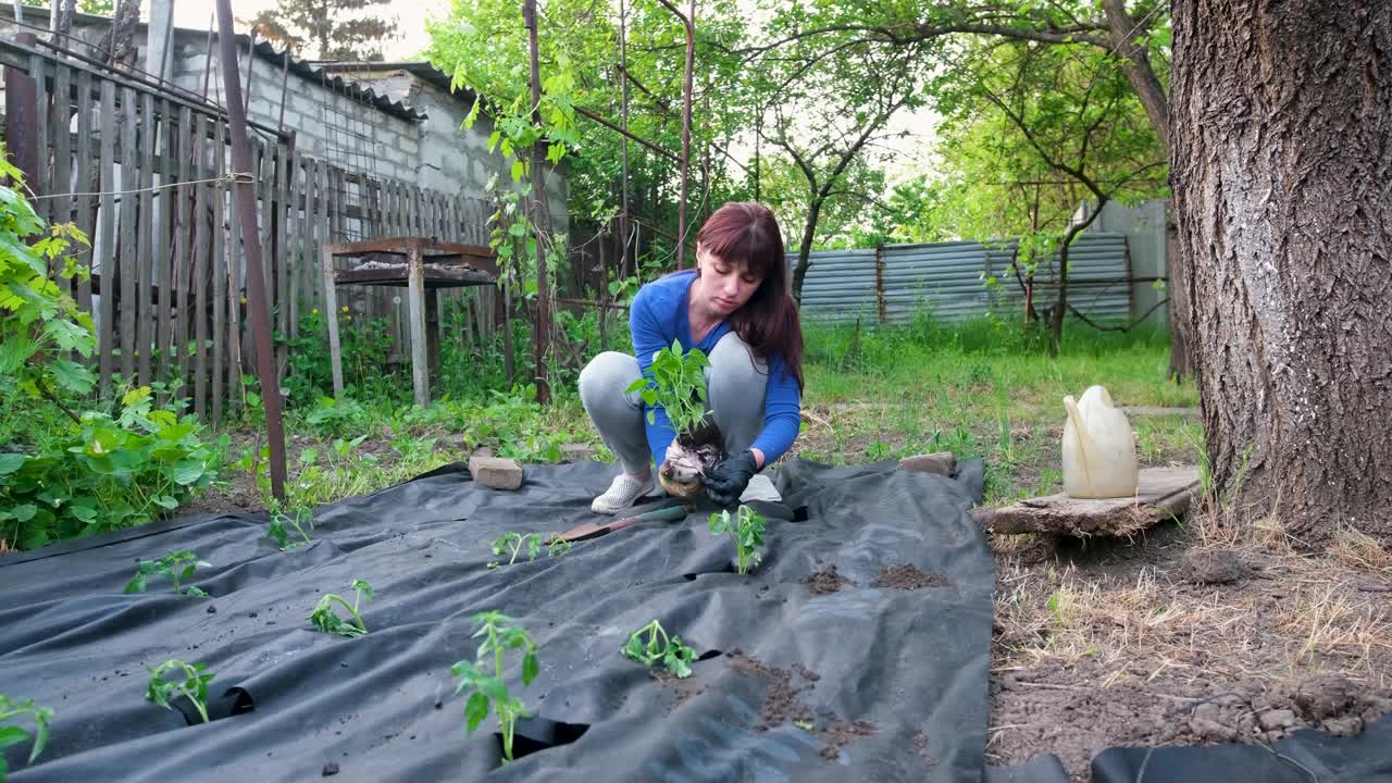
[[[122,380],[180,379],[193,411],[214,422],[238,398],[252,362],[234,177],[255,183],[267,302],[281,337],[296,339],[302,308],[322,301],[320,244],[398,235],[487,244],[490,210],[479,199],[296,155],[291,134],[264,128],[253,132],[253,170],[235,173],[227,116],[198,96],[10,40],[0,40],[0,64],[36,85],[33,138],[6,139],[11,153],[38,152],[35,208],[92,238],[74,249],[90,280],[74,281],[70,294],[97,323],[103,392]],[[355,313],[388,318],[394,352],[409,355],[394,290],[347,294]],[[451,298],[491,333],[491,287]],[[285,352],[278,340],[281,378]]]

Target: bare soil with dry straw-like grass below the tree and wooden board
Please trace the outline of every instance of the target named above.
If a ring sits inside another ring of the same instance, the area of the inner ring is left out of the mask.
[[[1356,734],[1392,712],[1392,568],[1189,522],[992,541],[990,763],[1057,754],[1082,782],[1109,747]]]

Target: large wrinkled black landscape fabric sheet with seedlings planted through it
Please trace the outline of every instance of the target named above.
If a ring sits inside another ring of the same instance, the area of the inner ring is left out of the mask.
[[[288,552],[264,517],[214,515],[0,559],[0,692],[56,713],[33,766],[8,748],[11,780],[981,779],[992,561],[969,513],[979,463],[949,479],[793,461],[777,472],[788,518],[770,514],[750,575],[731,573],[734,545],[703,513],[486,567],[505,531],[596,521],[612,471],[530,467],[498,492],[448,467],[319,509],[315,542]],[[121,592],[138,559],[180,549],[212,564],[192,580],[212,598],[157,578]],[[313,631],[316,600],[351,600],[359,578],[376,589],[370,633]],[[475,658],[482,610],[540,644],[536,680],[521,688],[514,656],[507,681],[540,719],[519,734],[541,744],[519,751],[543,750],[507,766],[491,715],[465,733],[450,676]],[[619,655],[654,619],[704,656],[690,679]],[[214,673],[212,723],[145,699],[167,659]]]

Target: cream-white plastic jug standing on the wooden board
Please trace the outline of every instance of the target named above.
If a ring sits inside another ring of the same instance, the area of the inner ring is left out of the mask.
[[[1129,497],[1140,478],[1136,440],[1126,414],[1107,389],[1091,386],[1083,398],[1063,397],[1063,492],[1070,497]]]

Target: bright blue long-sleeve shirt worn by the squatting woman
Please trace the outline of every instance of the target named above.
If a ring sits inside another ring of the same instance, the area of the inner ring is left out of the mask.
[[[695,272],[668,274],[639,288],[629,311],[629,332],[633,336],[633,355],[643,376],[653,378],[653,354],[671,347],[677,340],[682,351],[700,348],[707,355],[721,337],[729,333],[729,323],[722,320],[710,330],[700,343],[692,340],[690,320],[686,318],[688,293]],[[764,429],[752,447],[764,453],[764,465],[771,465],[781,457],[802,426],[802,404],[798,396],[798,379],[786,371],[784,357],[766,358],[768,386],[764,392]],[[649,405],[643,405],[643,422],[647,426],[647,446],[653,450],[653,461],[658,465],[667,456],[667,447],[677,437],[671,419],[661,405],[651,405],[653,422],[647,422]]]

